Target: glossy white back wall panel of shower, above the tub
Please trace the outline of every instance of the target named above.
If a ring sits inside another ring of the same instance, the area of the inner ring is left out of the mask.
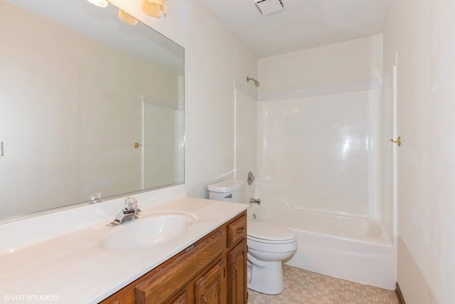
[[[380,90],[259,103],[259,177],[294,209],[375,217]]]

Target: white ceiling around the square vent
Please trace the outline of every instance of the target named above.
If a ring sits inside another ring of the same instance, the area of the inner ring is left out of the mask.
[[[285,11],[263,17],[253,0],[200,1],[257,58],[382,33],[392,4],[392,0],[282,0]]]

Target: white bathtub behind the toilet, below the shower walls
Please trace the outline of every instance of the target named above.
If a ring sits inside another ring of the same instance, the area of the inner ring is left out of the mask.
[[[336,278],[395,289],[396,249],[374,220],[294,209],[286,202],[253,205],[248,216],[285,226],[297,235],[286,264]]]

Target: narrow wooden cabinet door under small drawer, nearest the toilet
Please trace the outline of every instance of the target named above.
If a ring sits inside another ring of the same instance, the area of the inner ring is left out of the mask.
[[[228,253],[228,303],[247,303],[247,240]]]

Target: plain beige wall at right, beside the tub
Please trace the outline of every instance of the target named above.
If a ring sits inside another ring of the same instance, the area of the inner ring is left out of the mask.
[[[397,52],[398,283],[406,303],[453,303],[455,2],[400,0],[384,33]]]

